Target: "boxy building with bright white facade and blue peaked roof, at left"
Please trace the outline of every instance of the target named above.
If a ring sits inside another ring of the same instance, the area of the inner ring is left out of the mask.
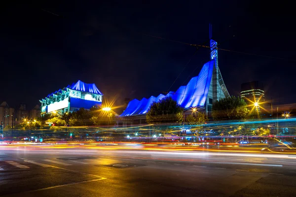
[[[103,94],[92,83],[77,81],[72,85],[51,93],[41,102],[41,115],[56,112],[60,115],[77,111],[79,108],[90,109],[92,106],[102,104]]]

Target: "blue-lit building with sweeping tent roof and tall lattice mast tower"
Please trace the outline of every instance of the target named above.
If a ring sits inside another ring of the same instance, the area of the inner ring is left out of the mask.
[[[145,119],[144,115],[153,102],[158,102],[164,97],[172,97],[185,109],[190,107],[200,108],[199,111],[206,112],[211,115],[213,102],[229,97],[229,93],[222,79],[220,69],[218,67],[218,49],[217,42],[210,40],[211,61],[204,64],[198,76],[192,77],[187,85],[181,86],[176,92],[169,92],[166,95],[158,95],[156,97],[143,98],[141,100],[131,100],[127,108],[120,117],[139,116],[140,124]],[[134,119],[134,123],[139,121]]]

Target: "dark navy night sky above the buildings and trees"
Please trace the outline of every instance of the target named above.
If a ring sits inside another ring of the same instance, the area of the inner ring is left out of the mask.
[[[168,39],[209,45],[212,23],[222,49],[285,59],[219,51],[230,95],[239,95],[241,83],[259,80],[265,100],[295,102],[293,7],[227,2],[72,0],[2,7],[0,101],[13,107],[25,102],[30,109],[78,80],[95,83],[116,104],[176,91],[210,55],[202,48],[192,57],[193,46]]]

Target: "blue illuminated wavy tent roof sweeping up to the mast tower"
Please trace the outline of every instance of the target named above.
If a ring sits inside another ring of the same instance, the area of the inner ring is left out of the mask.
[[[214,61],[210,61],[202,67],[198,76],[192,77],[186,86],[181,86],[176,92],[169,92],[167,95],[158,97],[134,99],[130,101],[120,116],[141,115],[148,112],[151,103],[158,102],[164,97],[172,97],[182,107],[204,106],[213,74]]]

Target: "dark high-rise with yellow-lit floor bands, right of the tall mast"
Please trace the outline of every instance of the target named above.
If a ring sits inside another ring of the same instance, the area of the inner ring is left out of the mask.
[[[251,81],[241,84],[241,98],[244,99],[249,108],[254,107],[255,111],[260,112],[260,107],[264,102],[264,87],[259,81]]]

